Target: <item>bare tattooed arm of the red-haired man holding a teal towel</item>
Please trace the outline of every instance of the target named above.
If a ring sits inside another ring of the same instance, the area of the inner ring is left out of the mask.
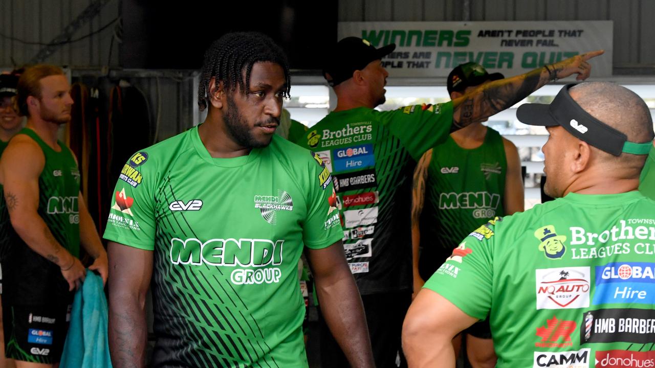
[[[54,238],[39,208],[39,175],[45,166],[41,147],[28,136],[14,137],[0,160],[0,179],[12,227],[36,253],[62,270],[69,290],[79,287],[86,275],[82,263]]]

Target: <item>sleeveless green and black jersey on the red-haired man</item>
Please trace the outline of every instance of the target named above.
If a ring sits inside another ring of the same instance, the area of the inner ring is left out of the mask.
[[[57,242],[78,257],[80,230],[77,200],[80,175],[73,153],[62,141],[58,141],[61,151],[54,151],[29,128],[24,128],[18,134],[36,141],[45,156],[45,166],[39,175],[37,213]],[[69,303],[68,284],[59,267],[31,250],[11,226],[5,202],[7,195],[5,193],[0,196],[0,248],[4,253],[1,261],[5,281],[3,299],[7,298],[10,303],[20,305]],[[44,282],[42,278],[47,274],[57,280]]]

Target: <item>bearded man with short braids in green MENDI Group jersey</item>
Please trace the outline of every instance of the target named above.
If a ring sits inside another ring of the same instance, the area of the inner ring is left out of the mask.
[[[125,164],[107,221],[114,367],[307,367],[297,265],[307,255],[329,325],[353,367],[372,367],[331,177],[274,135],[289,96],[286,56],[261,33],[228,33],[205,54],[200,126]],[[151,284],[152,280],[152,284]]]

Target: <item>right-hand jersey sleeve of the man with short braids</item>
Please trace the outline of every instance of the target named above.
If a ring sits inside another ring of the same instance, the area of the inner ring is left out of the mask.
[[[343,238],[341,217],[337,208],[337,194],[326,164],[316,153],[309,163],[309,196],[307,219],[303,224],[303,242],[307,248],[321,249]]]

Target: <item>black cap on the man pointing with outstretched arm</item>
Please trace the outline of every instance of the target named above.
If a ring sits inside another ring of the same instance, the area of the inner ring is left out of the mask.
[[[375,48],[365,39],[346,37],[329,52],[323,67],[323,76],[329,85],[336,86],[352,78],[354,71],[364,69],[370,62],[381,60],[395,48],[394,43]]]

